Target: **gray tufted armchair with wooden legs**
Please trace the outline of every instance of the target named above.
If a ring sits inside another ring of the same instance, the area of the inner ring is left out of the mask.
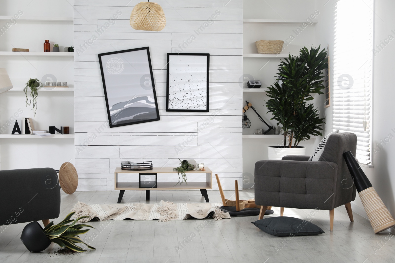
[[[255,164],[255,203],[261,205],[259,219],[265,209],[284,207],[329,210],[333,231],[335,207],[345,205],[353,222],[350,202],[356,188],[343,153],[355,156],[357,136],[351,132],[329,136],[318,162],[308,162],[310,156],[288,155],[282,160],[261,160]]]

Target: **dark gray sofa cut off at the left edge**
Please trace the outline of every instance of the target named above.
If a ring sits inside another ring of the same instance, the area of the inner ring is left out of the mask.
[[[58,175],[52,168],[0,171],[0,199],[0,228],[39,220],[46,225],[60,213]]]

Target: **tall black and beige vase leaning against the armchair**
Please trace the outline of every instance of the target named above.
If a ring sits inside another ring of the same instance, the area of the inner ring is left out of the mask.
[[[374,233],[379,233],[388,228],[395,226],[395,220],[389,213],[371,182],[362,171],[357,160],[350,151],[343,153],[344,160],[348,170],[354,178],[355,187],[357,188],[359,198],[361,198],[363,208],[369,218]]]

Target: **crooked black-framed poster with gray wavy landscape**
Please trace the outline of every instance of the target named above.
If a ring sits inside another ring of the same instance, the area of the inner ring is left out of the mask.
[[[149,47],[98,56],[110,128],[159,121]]]

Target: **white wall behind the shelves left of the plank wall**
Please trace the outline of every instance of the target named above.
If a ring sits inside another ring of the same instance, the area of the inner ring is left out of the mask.
[[[23,21],[26,17],[73,17],[73,6],[66,0],[0,0],[0,15],[19,18],[0,35],[0,51],[12,48],[29,48],[30,52],[42,52],[44,39],[63,47],[73,45],[72,22]],[[9,21],[0,21],[2,28]],[[23,88],[29,78],[41,80],[52,74],[58,81],[68,82],[73,87],[72,57],[0,56],[0,67],[5,67],[14,88]],[[7,91],[0,95],[0,126],[3,127],[15,112],[23,111],[20,120],[33,118],[36,129],[48,130],[49,126],[70,126],[74,132],[73,92],[40,91],[36,117],[31,106],[25,106],[23,91]],[[14,122],[2,134],[11,134]],[[56,170],[63,162],[74,161],[73,139],[71,138],[2,138],[1,169],[52,167]]]

